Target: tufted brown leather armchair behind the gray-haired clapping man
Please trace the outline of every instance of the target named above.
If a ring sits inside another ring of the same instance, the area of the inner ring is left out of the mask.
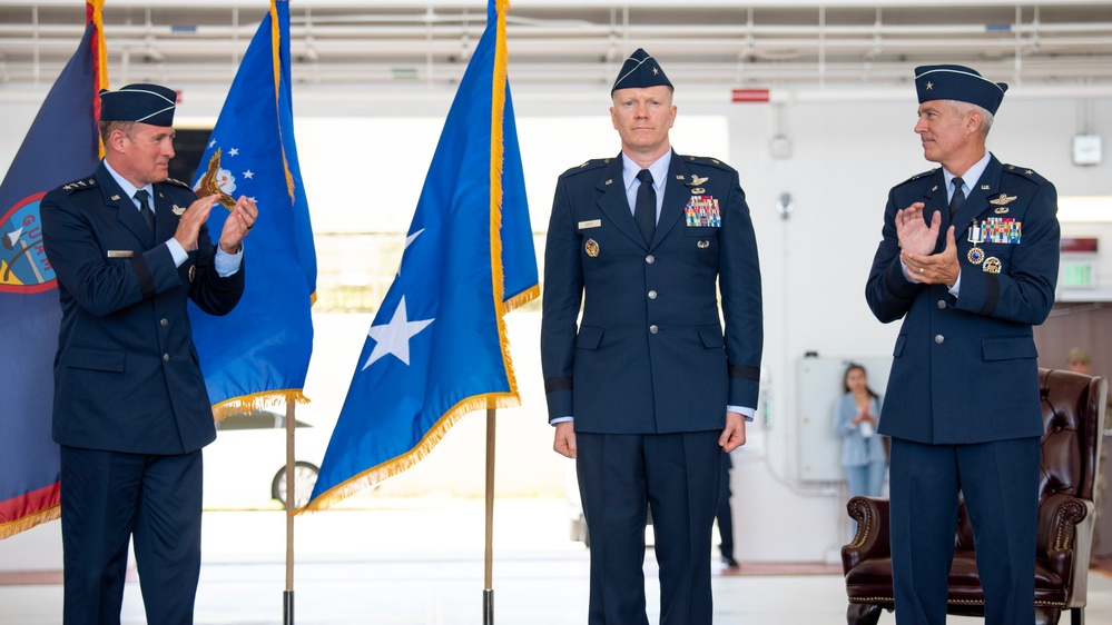
[[[1093,482],[1100,468],[1108,381],[1046,369],[1040,369],[1039,380],[1046,428],[1039,486],[1039,546],[1034,554],[1036,621],[1053,625],[1062,609],[1069,609],[1073,625],[1082,625],[1095,524]],[[875,625],[882,609],[894,608],[888,500],[854,497],[847,508],[857,522],[857,534],[842,547],[849,595],[846,617],[850,625]],[[964,502],[958,508],[947,612],[984,615],[984,591],[977,577],[973,529]]]

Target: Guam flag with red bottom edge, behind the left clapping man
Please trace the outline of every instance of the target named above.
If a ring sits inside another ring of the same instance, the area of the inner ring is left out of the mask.
[[[108,87],[104,0],[86,4],[85,36],[39,108],[0,182],[0,538],[60,514],[58,445],[50,438],[58,281],[42,249],[39,201],[88,176],[100,157],[97,119]]]

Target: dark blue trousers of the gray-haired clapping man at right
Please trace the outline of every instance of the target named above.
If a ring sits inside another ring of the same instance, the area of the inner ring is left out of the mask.
[[[986,625],[1035,621],[1040,439],[924,445],[892,439],[892,571],[898,625],[946,622],[957,495],[973,526]]]

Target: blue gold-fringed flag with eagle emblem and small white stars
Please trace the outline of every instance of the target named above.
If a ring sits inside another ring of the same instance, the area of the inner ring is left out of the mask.
[[[286,0],[272,0],[239,63],[194,187],[219,194],[228,209],[211,212],[211,232],[239,196],[258,206],[244,241],[247,284],[238,306],[218,319],[189,307],[216,417],[305,401],[316,251],[294,142]]]

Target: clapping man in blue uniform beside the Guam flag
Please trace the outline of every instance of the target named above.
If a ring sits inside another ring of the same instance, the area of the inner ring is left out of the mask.
[[[147,622],[193,623],[201,447],[216,438],[186,314],[225,315],[244,289],[240,198],[218,244],[216,196],[167,178],[176,95],[100,95],[105,159],[47,194],[42,240],[62,309],[53,439],[61,446],[66,625],[120,622],[134,539]]]

